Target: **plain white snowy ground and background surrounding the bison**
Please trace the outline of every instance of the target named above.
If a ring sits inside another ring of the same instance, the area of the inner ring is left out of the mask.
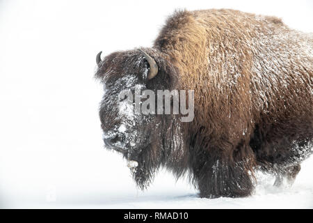
[[[313,1],[1,1],[1,208],[313,208],[313,158],[293,187],[260,174],[243,199],[200,199],[162,170],[144,192],[106,151],[98,118],[102,50],[150,47],[176,8],[276,15],[313,32]]]

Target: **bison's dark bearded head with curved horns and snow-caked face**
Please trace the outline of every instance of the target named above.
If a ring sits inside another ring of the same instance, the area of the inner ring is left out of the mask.
[[[127,158],[136,183],[143,188],[164,162],[163,137],[164,132],[170,134],[168,130],[171,129],[172,118],[138,114],[134,103],[120,95],[125,91],[136,93],[146,89],[174,89],[177,86],[177,71],[155,49],[114,52],[103,60],[100,54],[97,55],[95,77],[104,84],[104,96],[99,108],[104,144]]]

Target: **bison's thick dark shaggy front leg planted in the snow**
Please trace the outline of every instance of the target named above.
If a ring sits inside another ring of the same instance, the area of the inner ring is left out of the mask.
[[[210,157],[194,164],[193,174],[200,197],[246,197],[251,194],[254,183],[248,161],[225,161],[221,157],[214,157],[214,160]]]

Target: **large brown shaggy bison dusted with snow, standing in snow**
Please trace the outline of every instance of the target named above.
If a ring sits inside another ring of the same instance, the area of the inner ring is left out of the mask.
[[[177,10],[153,47],[97,55],[106,148],[144,189],[160,167],[188,174],[200,197],[246,197],[255,171],[294,180],[312,153],[313,38],[277,17]],[[194,118],[135,114],[129,89],[194,91]]]

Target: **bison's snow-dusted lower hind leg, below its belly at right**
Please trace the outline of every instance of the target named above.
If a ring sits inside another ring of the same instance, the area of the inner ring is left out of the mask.
[[[295,164],[291,167],[285,167],[285,168],[281,169],[276,174],[274,186],[280,187],[283,183],[284,178],[287,179],[287,183],[289,185],[292,185],[294,183],[294,180],[296,180],[296,176],[298,175],[300,169],[301,169],[300,164]]]

